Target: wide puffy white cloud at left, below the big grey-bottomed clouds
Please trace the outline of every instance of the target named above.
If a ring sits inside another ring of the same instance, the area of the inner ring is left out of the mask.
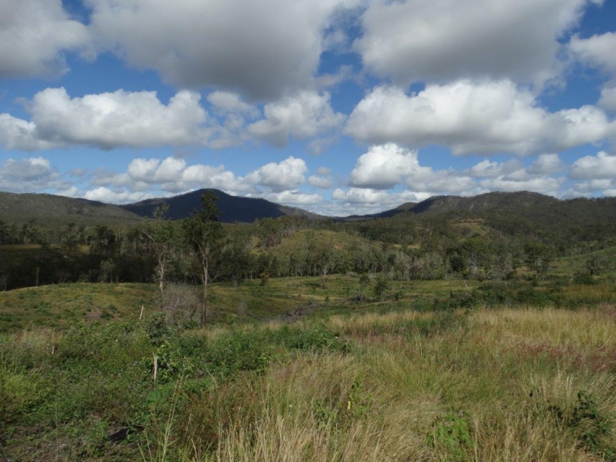
[[[164,105],[156,92],[88,94],[71,99],[64,88],[34,96],[30,111],[42,140],[116,146],[190,144],[203,141],[207,118],[199,95],[181,91]]]

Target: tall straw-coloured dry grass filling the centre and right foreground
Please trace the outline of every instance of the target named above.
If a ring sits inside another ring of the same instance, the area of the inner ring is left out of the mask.
[[[611,457],[613,307],[474,311],[451,329],[399,329],[435,316],[331,318],[326,328],[354,339],[355,349],[285,356],[263,374],[193,394],[174,424],[183,436],[173,454],[194,461]],[[580,420],[579,392],[592,397],[606,433],[599,420]],[[431,442],[428,435],[456,419],[468,424],[472,444],[455,437]],[[599,444],[589,444],[585,431],[595,432]]]

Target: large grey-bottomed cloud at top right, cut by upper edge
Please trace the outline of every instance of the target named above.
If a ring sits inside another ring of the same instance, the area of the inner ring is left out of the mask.
[[[503,77],[541,84],[559,69],[558,39],[587,0],[377,0],[355,42],[363,63],[396,84]]]

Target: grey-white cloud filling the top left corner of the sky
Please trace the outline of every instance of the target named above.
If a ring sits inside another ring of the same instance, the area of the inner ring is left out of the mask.
[[[3,0],[0,78],[61,75],[63,52],[87,42],[86,26],[68,17],[61,0]]]

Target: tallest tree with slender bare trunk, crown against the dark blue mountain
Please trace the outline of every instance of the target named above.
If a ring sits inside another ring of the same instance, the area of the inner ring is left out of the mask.
[[[223,229],[218,217],[220,209],[216,205],[218,197],[212,191],[201,194],[201,210],[194,211],[191,218],[182,223],[185,240],[194,251],[201,264],[201,281],[203,282],[203,300],[201,305],[201,327],[205,326],[207,317],[207,283],[209,267],[223,237]]]

